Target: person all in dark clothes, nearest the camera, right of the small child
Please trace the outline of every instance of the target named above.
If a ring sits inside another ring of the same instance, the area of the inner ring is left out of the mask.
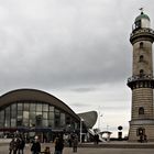
[[[62,136],[55,139],[55,153],[54,154],[63,154],[64,141]]]

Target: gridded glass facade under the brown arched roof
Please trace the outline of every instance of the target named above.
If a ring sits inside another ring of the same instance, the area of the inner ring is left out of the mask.
[[[47,102],[18,101],[0,110],[0,128],[32,129],[51,128],[73,130],[79,128],[79,122],[73,119],[67,112],[55,108]]]

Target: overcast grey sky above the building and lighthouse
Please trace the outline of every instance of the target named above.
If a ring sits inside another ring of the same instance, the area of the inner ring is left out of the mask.
[[[96,110],[101,130],[131,119],[129,42],[139,8],[153,0],[0,0],[0,95],[44,90],[75,112]],[[108,127],[107,127],[108,125]]]

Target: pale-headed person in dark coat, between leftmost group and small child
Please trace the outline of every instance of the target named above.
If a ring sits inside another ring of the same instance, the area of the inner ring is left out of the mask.
[[[35,136],[35,140],[31,146],[31,152],[32,154],[40,154],[41,152],[41,144],[40,144],[40,141],[38,141],[38,136]]]

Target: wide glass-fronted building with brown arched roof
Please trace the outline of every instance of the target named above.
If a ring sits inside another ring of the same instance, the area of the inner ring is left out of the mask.
[[[84,130],[89,128],[91,119],[89,122],[86,121]],[[95,122],[92,120],[90,127]],[[18,89],[0,97],[1,132],[20,131],[26,132],[30,136],[38,133],[43,138],[51,139],[53,133],[70,131],[79,133],[79,129],[80,117],[62,100],[45,91]]]

